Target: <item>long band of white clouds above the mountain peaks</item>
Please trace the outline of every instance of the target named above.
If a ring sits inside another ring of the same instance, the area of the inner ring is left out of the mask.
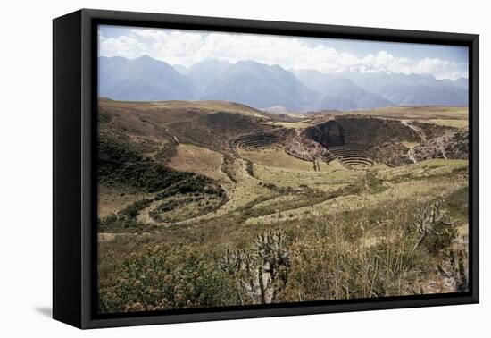
[[[100,55],[135,58],[150,55],[171,64],[189,66],[207,58],[229,62],[254,60],[284,68],[337,72],[359,70],[432,74],[437,79],[467,76],[465,65],[439,58],[397,57],[385,50],[362,58],[324,44],[312,45],[302,38],[253,34],[201,33],[188,30],[132,29],[126,36],[99,36]]]

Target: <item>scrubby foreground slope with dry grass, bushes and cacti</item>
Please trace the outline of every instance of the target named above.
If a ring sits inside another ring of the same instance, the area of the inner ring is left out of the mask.
[[[368,188],[359,193],[380,189],[370,184],[364,180]],[[466,232],[467,196],[462,187],[437,199],[305,215],[266,228],[229,215],[101,241],[100,310],[465,291],[467,250],[459,233]],[[264,240],[275,233],[281,241]],[[279,258],[268,257],[279,251]]]

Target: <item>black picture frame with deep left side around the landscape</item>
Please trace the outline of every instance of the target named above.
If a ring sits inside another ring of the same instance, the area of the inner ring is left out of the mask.
[[[97,315],[98,24],[469,47],[470,291],[363,300]],[[479,35],[82,9],[53,21],[53,317],[79,328],[307,315],[479,302]]]

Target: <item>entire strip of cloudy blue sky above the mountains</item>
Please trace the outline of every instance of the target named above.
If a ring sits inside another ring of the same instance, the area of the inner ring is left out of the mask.
[[[186,67],[207,59],[254,60],[285,69],[431,74],[438,80],[467,78],[469,68],[465,46],[107,25],[99,26],[98,45],[99,56],[149,55]]]

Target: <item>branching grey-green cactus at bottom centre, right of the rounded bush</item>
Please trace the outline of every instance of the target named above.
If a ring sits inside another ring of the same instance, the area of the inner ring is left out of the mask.
[[[240,285],[254,303],[269,304],[287,284],[290,270],[287,236],[281,230],[263,232],[254,249],[230,251],[219,261],[221,269],[240,278]]]

